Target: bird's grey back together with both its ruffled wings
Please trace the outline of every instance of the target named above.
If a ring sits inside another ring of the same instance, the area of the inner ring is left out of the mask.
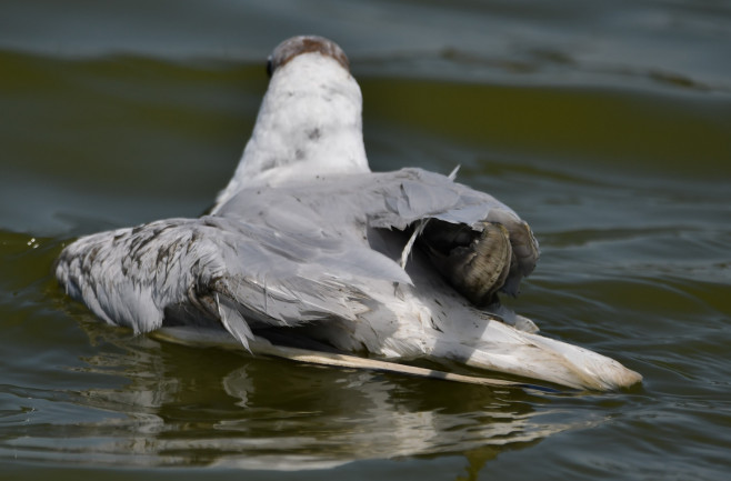
[[[418,169],[248,190],[217,213],[81,238],[56,273],[67,292],[107,322],[137,332],[167,317],[221,322],[247,345],[251,329],[356,320],[373,308],[373,281],[411,283],[371,249],[372,228],[422,219],[480,228],[522,221],[490,196]],[[511,231],[512,236],[512,231]],[[375,282],[384,285],[383,282]]]

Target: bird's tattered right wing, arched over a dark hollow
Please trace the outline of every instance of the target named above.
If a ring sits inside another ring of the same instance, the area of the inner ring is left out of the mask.
[[[271,207],[276,206],[276,209]],[[518,291],[521,279],[533,271],[539,248],[528,224],[492,196],[421,169],[322,177],[301,184],[247,189],[223,204],[218,214],[256,220],[282,234],[320,229],[331,236],[364,236],[366,228],[399,229],[435,220],[433,231],[465,226],[482,232],[487,223],[504,226],[513,262],[503,290]],[[445,237],[445,236],[444,236]],[[379,265],[381,268],[382,265]]]

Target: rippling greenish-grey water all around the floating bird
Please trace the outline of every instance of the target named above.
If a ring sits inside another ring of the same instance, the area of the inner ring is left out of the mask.
[[[511,304],[642,387],[252,360],[64,299],[64,242],[210,206],[298,33],[350,54],[373,168],[512,206],[543,255]],[[727,479],[729,59],[728,1],[3,1],[0,478]]]

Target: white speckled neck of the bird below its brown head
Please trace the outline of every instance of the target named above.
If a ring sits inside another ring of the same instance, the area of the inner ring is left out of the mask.
[[[251,139],[219,204],[250,186],[369,171],[360,88],[333,59],[312,56],[308,61],[294,58],[271,79]]]

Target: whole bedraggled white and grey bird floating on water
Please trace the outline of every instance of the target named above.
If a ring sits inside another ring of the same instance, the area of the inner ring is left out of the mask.
[[[428,359],[595,390],[642,379],[500,305],[539,254],[510,208],[453,176],[371,172],[360,88],[336,43],[286,40],[269,72],[210,214],[77,240],[56,264],[69,295],[134,332],[218,332],[308,362]]]

